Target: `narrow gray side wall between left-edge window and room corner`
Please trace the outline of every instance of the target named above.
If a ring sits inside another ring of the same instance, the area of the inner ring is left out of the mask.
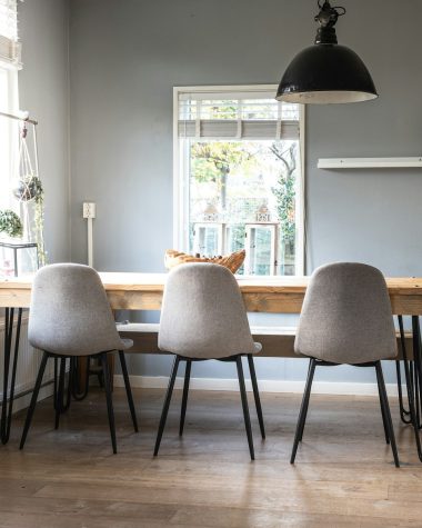
[[[50,262],[63,261],[70,259],[68,1],[29,0],[18,7],[23,61],[20,108],[39,121],[46,247]]]

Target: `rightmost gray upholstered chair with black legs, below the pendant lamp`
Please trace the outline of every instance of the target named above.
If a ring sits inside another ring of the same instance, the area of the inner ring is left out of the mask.
[[[307,420],[316,366],[374,367],[384,426],[395,466],[399,457],[381,359],[396,356],[396,339],[384,277],[372,266],[339,262],[318,268],[311,277],[300,315],[294,350],[310,357],[291,464]]]

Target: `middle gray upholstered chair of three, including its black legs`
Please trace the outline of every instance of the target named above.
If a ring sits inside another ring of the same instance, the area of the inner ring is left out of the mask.
[[[254,459],[252,429],[244,387],[242,356],[248,357],[262,438],[265,438],[253,355],[253,342],[239,286],[231,271],[214,263],[184,263],[173,268],[165,283],[161,308],[159,348],[175,355],[157,436],[158,455],[180,361],[185,361],[180,418],[183,434],[192,361],[218,359],[237,363],[243,417],[251,459]]]

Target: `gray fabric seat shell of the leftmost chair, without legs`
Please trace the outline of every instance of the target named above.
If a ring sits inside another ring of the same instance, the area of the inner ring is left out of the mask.
[[[36,348],[68,356],[125,348],[99,275],[76,263],[46,266],[37,272],[28,338]]]

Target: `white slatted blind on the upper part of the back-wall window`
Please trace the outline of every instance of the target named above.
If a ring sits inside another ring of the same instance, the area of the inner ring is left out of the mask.
[[[208,139],[298,139],[299,104],[272,92],[179,92],[179,137]]]

